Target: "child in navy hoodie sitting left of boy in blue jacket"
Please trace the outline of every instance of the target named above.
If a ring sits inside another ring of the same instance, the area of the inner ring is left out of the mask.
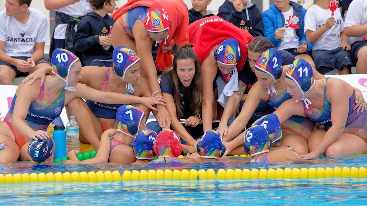
[[[259,8],[248,0],[226,0],[219,7],[218,16],[248,31],[252,36],[264,36],[264,25]]]

